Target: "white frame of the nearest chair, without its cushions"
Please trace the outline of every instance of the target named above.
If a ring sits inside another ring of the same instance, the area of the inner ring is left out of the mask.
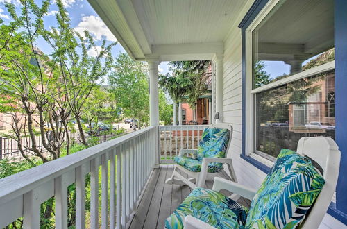
[[[300,224],[301,228],[319,228],[335,192],[337,178],[339,176],[341,152],[334,140],[329,137],[302,137],[298,142],[297,153],[311,158],[319,164],[321,169],[323,169],[322,175],[325,180],[325,185],[323,186],[319,196],[316,198],[316,202],[311,207],[310,212],[305,216],[305,219]],[[226,189],[250,200],[253,199],[257,192],[256,189],[223,178],[214,178],[212,189],[217,192],[221,189]],[[187,216],[185,217],[185,228],[212,229],[214,227],[192,216]]]

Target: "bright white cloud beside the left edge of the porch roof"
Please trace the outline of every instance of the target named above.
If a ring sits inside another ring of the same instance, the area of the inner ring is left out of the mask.
[[[101,21],[100,17],[94,15],[84,16],[82,21],[78,23],[75,30],[84,37],[84,31],[89,31],[95,40],[101,40],[105,37],[106,40],[116,42],[116,37],[111,33],[108,27]]]

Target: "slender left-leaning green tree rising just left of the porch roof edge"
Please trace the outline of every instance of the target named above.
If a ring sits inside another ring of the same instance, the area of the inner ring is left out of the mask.
[[[106,40],[103,40],[101,51],[98,52],[94,37],[88,31],[84,31],[84,36],[76,33],[71,28],[69,15],[62,2],[57,1],[57,5],[60,12],[56,15],[58,27],[44,31],[44,38],[55,51],[52,55],[54,64],[51,67],[60,73],[81,142],[87,146],[81,124],[83,112],[88,109],[85,103],[96,87],[96,82],[102,80],[110,71],[113,62],[111,50],[117,42],[107,44]],[[97,52],[96,57],[88,54],[90,49]]]

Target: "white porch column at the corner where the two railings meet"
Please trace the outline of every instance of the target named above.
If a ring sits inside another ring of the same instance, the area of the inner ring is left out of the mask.
[[[158,58],[148,58],[149,63],[149,123],[155,126],[155,164],[154,168],[159,168],[160,152],[159,152],[159,85],[158,85]]]

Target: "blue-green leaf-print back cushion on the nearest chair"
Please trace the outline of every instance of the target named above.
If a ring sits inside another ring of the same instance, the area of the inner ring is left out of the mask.
[[[324,184],[310,160],[282,149],[253,198],[246,228],[296,228]]]

